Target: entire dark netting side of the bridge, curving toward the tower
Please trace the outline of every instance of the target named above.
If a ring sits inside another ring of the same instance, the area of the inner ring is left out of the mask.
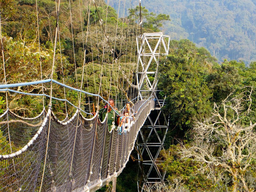
[[[86,119],[79,110],[64,122],[51,109],[36,118],[22,118],[7,110],[0,116],[0,191],[39,191],[43,178],[41,191],[75,192],[115,177],[125,167],[138,131],[153,108],[151,98],[137,102],[136,120],[122,134],[115,129],[109,132],[106,119],[100,122],[97,115]]]

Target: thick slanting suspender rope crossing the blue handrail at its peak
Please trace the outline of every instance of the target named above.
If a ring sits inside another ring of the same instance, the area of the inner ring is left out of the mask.
[[[55,0],[56,2],[56,0]],[[57,18],[56,18],[56,26],[55,26],[55,40],[54,40],[54,50],[53,50],[53,64],[51,69],[51,89],[50,89],[50,101],[49,101],[49,110],[51,110],[51,99],[52,99],[52,93],[53,93],[53,70],[54,70],[54,62],[55,62],[55,52],[56,52],[56,43],[57,43],[57,33],[58,33],[58,22],[59,22],[59,4],[60,0],[58,1],[58,10],[57,10]],[[50,135],[50,125],[51,125],[51,113],[49,114],[49,126],[48,126],[48,133],[47,133],[47,142],[46,142],[46,151],[45,151],[45,160],[43,165],[43,174],[41,179],[41,185],[39,192],[41,192],[42,185],[43,185],[43,177],[45,173],[45,165],[46,165],[46,157],[47,157],[47,150],[48,150],[48,144],[49,144],[49,135]]]

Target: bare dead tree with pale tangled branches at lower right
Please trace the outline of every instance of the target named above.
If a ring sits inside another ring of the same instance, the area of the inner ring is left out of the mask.
[[[254,191],[256,123],[248,118],[253,87],[239,92],[231,93],[219,105],[214,103],[212,117],[196,123],[192,144],[183,145],[179,153],[200,162],[199,171],[210,173],[214,181],[222,180],[229,191]]]

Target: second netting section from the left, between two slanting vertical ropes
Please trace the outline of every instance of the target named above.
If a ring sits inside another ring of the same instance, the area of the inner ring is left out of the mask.
[[[76,113],[77,114],[77,113]],[[69,171],[77,125],[77,115],[70,122],[58,122],[51,116],[50,137],[42,191],[70,191]]]

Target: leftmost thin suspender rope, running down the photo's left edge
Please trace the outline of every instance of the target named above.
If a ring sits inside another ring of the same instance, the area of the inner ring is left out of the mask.
[[[5,57],[4,57],[4,52],[3,52],[1,13],[0,13],[0,39],[1,39],[1,52],[2,52],[2,60],[3,60],[3,73],[4,73],[4,76],[5,76],[5,85],[6,85],[7,82],[6,82],[6,73],[5,73]],[[9,111],[7,91],[5,92],[5,97],[6,97],[6,111]],[[8,132],[8,141],[9,141],[9,145],[10,145],[10,151],[11,151],[11,153],[13,153],[13,150],[12,150],[12,147],[11,147],[11,137],[10,137],[9,115],[8,114],[6,115],[6,119],[7,119],[7,132]],[[13,159],[12,159],[12,163],[13,163],[13,168],[14,168],[14,174],[15,174],[15,177],[17,178],[15,164],[14,164],[14,160]],[[19,183],[18,183],[18,185],[19,185]]]

